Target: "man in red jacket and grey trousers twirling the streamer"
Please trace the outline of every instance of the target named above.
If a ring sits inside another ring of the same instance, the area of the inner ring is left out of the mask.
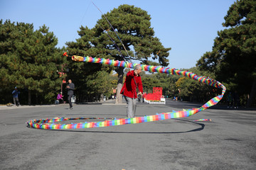
[[[136,112],[137,104],[137,87],[139,88],[138,95],[143,94],[142,78],[140,73],[142,72],[142,67],[137,64],[134,70],[127,73],[127,77],[124,81],[124,86],[122,86],[120,94],[124,95],[125,101],[127,101],[127,118],[134,118]],[[134,82],[134,80],[136,82]]]

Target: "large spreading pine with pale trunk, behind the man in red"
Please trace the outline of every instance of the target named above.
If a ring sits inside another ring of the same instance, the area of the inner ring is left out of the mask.
[[[127,56],[122,43],[105,16],[122,40],[129,56]],[[143,64],[151,64],[150,60],[157,60],[162,66],[168,65],[166,57],[168,57],[168,51],[171,48],[165,48],[161,45],[159,38],[154,37],[154,30],[150,23],[151,18],[146,11],[134,6],[121,5],[105,16],[102,16],[92,29],[81,26],[80,31],[78,31],[81,38],[76,43],[67,43],[68,52],[75,55],[82,54],[114,60],[124,60],[122,57],[124,56],[128,62],[130,62],[129,57],[131,57],[132,60],[137,60]],[[122,55],[107,34],[114,40]],[[98,69],[100,69],[99,66]],[[119,92],[122,88],[124,68],[115,68],[115,71],[118,74],[116,103],[122,103],[122,95]]]

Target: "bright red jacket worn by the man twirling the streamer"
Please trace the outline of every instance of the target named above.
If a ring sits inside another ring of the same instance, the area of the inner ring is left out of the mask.
[[[134,79],[137,83],[137,86],[139,87],[139,91],[143,94],[142,78],[140,76],[135,76],[134,70],[127,73],[127,77],[125,78],[124,86],[122,86],[120,94],[123,94],[124,96],[127,96],[129,98],[137,98],[137,86],[134,83]]]

